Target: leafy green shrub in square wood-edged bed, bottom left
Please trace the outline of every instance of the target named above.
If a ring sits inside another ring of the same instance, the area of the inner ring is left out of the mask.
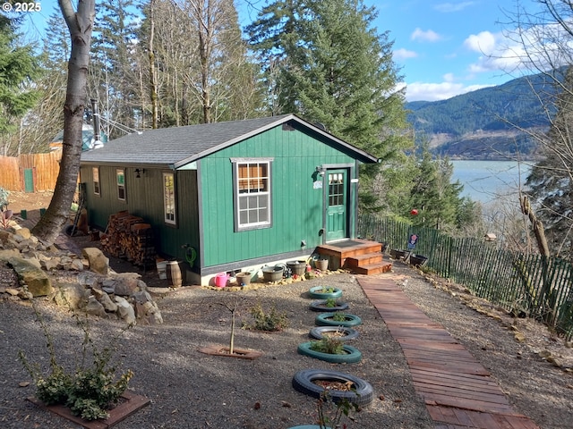
[[[34,310],[47,340],[50,373],[42,374],[38,363],[30,363],[22,350],[18,352],[18,356],[36,384],[38,400],[46,405],[69,407],[74,416],[81,416],[84,420],[106,418],[107,409],[118,402],[133,377],[133,372],[128,369],[115,381],[116,368],[109,365],[119,335],[112,339],[109,346],[99,350],[91,340],[87,315],[84,319],[74,313],[73,317],[83,331],[81,363],[73,373],[68,373],[57,363],[52,334],[48,331],[42,315],[35,307]],[[86,364],[88,360],[91,362],[90,366]]]

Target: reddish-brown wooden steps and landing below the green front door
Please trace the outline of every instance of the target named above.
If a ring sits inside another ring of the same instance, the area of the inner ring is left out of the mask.
[[[357,274],[388,273],[392,263],[384,261],[382,244],[369,240],[344,240],[316,248],[322,257],[329,258],[329,269],[345,268]]]

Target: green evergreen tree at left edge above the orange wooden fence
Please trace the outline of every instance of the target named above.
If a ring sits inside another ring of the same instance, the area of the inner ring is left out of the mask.
[[[32,85],[38,74],[38,58],[32,45],[21,45],[16,24],[0,14],[0,153],[4,156],[19,152],[11,137],[38,99]]]

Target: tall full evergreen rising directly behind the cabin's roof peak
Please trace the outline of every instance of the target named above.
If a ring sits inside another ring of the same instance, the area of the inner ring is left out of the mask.
[[[392,161],[412,145],[392,43],[372,28],[375,17],[360,0],[278,0],[247,27],[267,64],[269,111],[320,122],[383,160],[363,165],[361,201],[371,209],[379,207],[375,189],[389,189],[375,179],[396,174]]]

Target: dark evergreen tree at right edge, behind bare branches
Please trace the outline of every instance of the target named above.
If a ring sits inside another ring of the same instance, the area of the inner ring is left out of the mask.
[[[566,72],[557,114],[543,141],[543,160],[526,180],[553,255],[571,258],[573,240],[573,67]]]

